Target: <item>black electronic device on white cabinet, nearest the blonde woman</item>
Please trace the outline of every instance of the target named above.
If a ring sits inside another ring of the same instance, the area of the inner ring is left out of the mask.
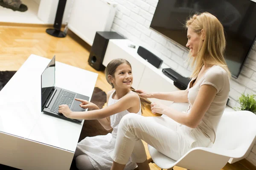
[[[190,82],[190,78],[183,77],[178,74],[176,71],[172,70],[172,68],[163,68],[163,74],[173,80],[173,84],[179,88],[180,90],[186,90],[188,84]]]

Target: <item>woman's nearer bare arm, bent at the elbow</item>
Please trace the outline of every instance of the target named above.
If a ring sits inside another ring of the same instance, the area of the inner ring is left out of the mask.
[[[189,114],[155,103],[151,105],[151,111],[165,114],[180,124],[195,128],[204,117],[216,94],[217,90],[212,85],[202,85]]]

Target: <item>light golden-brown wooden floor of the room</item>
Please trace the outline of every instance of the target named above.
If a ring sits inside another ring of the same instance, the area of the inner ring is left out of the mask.
[[[56,55],[56,61],[98,73],[96,87],[101,88],[106,93],[111,90],[111,86],[105,80],[104,73],[96,71],[88,65],[87,60],[90,54],[90,46],[87,43],[71,31],[68,32],[65,38],[56,38],[48,35],[45,30],[45,27],[0,26],[0,71],[18,70],[30,54],[36,54],[49,59]],[[146,109],[143,116],[156,115],[153,115],[150,110]],[[146,144],[145,147],[147,147]],[[150,167],[151,170],[161,170],[152,163],[150,163]],[[174,167],[174,170],[185,169]],[[222,170],[247,169],[239,162],[236,162],[234,164],[227,164]]]

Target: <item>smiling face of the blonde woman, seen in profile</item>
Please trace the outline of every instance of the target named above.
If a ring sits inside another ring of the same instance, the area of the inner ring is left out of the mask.
[[[190,53],[192,54],[192,57],[196,57],[198,53],[198,47],[199,43],[202,40],[201,34],[197,34],[193,31],[192,28],[188,28],[187,32],[188,42],[186,44],[186,47],[189,48]]]

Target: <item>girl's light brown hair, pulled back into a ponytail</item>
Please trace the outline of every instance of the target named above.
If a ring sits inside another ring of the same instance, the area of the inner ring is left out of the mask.
[[[110,79],[108,79],[108,75],[111,75],[112,77],[115,77],[116,68],[121,64],[127,64],[131,67],[130,62],[128,62],[126,59],[113,59],[111,62],[108,63],[107,67],[105,68],[105,77],[108,81],[108,83],[112,86],[112,88],[115,88],[113,83],[110,82]],[[137,93],[134,88],[131,88],[131,91]],[[151,102],[143,97],[140,97],[140,103],[141,108],[144,109],[147,105],[150,105]],[[141,111],[142,111],[141,109]]]

